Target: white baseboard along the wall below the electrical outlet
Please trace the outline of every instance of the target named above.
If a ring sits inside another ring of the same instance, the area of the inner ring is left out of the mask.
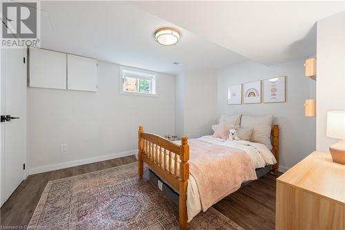
[[[73,166],[90,164],[94,162],[101,162],[103,160],[111,160],[111,159],[115,159],[119,157],[126,157],[128,155],[135,155],[136,153],[137,153],[137,150],[132,150],[132,151],[126,151],[126,152],[121,152],[121,153],[114,153],[110,155],[101,155],[99,157],[90,157],[90,158],[86,158],[82,160],[74,160],[71,162],[63,162],[59,164],[50,164],[46,166],[40,166],[33,169],[29,169],[28,175],[37,174],[37,173],[45,173],[48,171],[54,171],[54,170],[59,170],[59,169],[66,169]]]

